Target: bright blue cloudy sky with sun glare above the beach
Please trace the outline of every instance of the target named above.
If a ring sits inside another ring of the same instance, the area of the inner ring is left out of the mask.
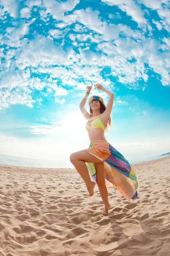
[[[0,0],[0,28],[0,154],[68,163],[88,148],[79,103],[95,82],[115,95],[113,147],[170,151],[168,0]]]

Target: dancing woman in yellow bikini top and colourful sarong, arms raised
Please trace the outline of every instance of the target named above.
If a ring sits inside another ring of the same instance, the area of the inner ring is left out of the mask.
[[[137,198],[136,174],[125,157],[107,142],[104,136],[105,128],[111,125],[111,110],[114,94],[104,88],[101,84],[95,84],[109,96],[107,107],[99,96],[92,96],[89,101],[90,113],[85,109],[85,102],[90,94],[91,86],[87,86],[87,92],[79,107],[82,114],[88,120],[85,125],[90,139],[88,149],[74,152],[70,155],[70,161],[77,169],[87,186],[89,195],[94,194],[97,183],[102,201],[105,205],[104,212],[107,213],[111,205],[108,202],[107,187],[116,186],[125,198]],[[87,165],[86,165],[87,163]],[[94,180],[91,181],[89,172]]]

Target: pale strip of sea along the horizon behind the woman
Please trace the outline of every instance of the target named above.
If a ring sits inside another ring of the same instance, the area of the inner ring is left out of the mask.
[[[154,159],[159,159],[164,156],[155,156],[147,158],[138,158],[138,159],[128,159],[129,163],[139,163],[150,161]],[[23,157],[12,157],[0,154],[0,164],[7,164],[12,166],[26,166],[26,167],[43,167],[43,168],[74,168],[71,163],[58,160],[41,160],[41,159],[31,159]]]

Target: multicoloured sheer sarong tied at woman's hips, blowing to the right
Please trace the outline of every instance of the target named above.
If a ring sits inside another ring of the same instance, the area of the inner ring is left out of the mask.
[[[136,173],[119,151],[105,140],[94,140],[85,150],[104,162],[107,188],[115,186],[125,198],[137,198]],[[86,164],[94,182],[97,183],[95,163]]]

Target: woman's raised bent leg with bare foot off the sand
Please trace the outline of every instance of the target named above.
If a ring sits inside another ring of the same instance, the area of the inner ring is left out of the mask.
[[[80,150],[70,155],[70,161],[76,168],[79,175],[81,175],[81,177],[83,178],[85,185],[87,186],[89,195],[92,196],[94,194],[94,187],[96,183],[91,181],[88,167],[85,163],[102,163],[102,160],[99,160],[97,157],[92,156],[85,150]]]

